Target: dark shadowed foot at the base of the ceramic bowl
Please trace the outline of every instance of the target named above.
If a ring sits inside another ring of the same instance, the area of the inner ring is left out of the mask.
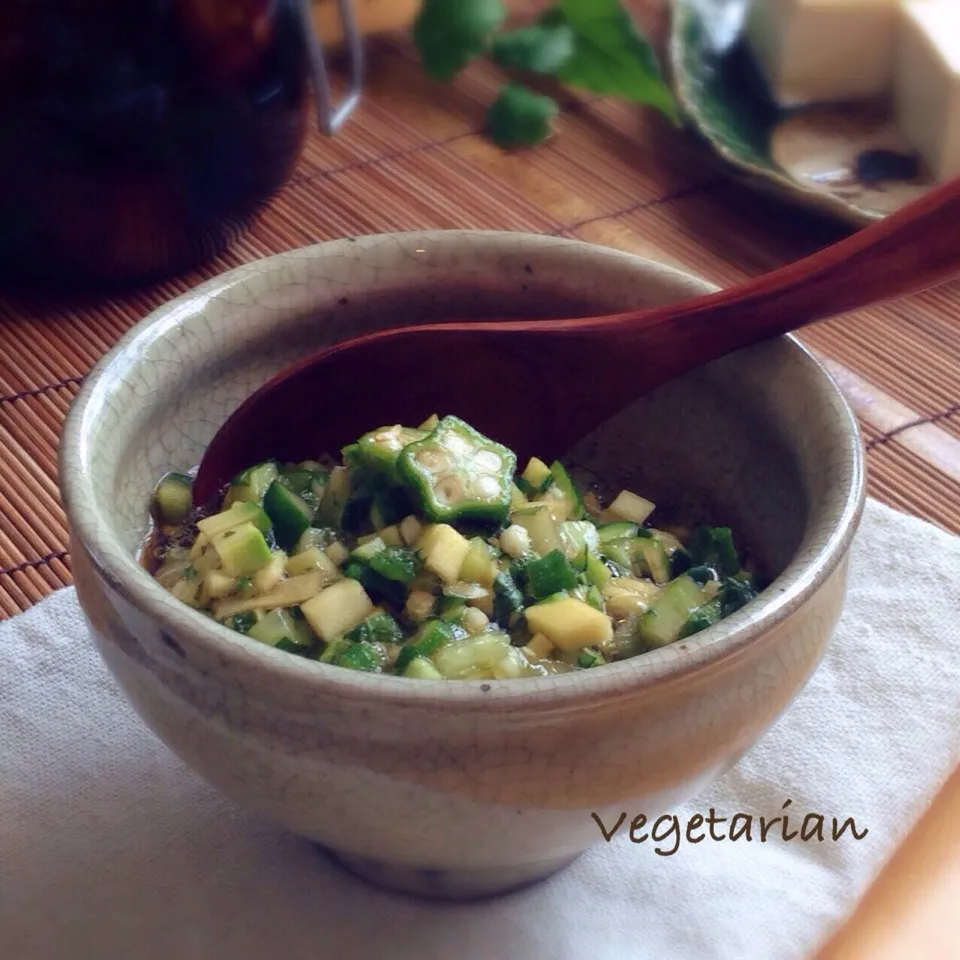
[[[371,860],[342,853],[318,844],[328,857],[344,870],[361,877],[374,886],[407,896],[429,900],[480,900],[513,893],[523,887],[546,880],[568,867],[580,854],[555,860],[519,864],[508,867],[488,867],[473,870],[446,870],[409,866]]]

